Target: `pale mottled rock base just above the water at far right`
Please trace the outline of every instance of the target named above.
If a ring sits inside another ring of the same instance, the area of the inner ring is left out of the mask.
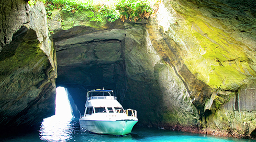
[[[204,131],[212,135],[250,136],[255,128],[253,127],[256,124],[255,117],[255,111],[248,113],[220,108],[218,111],[212,111],[212,114],[202,122],[202,126],[205,128]]]

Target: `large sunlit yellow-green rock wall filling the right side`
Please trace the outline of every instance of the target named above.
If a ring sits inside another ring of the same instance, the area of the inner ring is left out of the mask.
[[[255,129],[255,4],[162,1],[146,26],[184,81],[202,133],[250,137]]]

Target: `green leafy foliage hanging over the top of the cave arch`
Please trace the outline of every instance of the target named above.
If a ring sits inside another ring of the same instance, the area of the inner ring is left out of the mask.
[[[35,0],[31,0],[35,1]],[[50,18],[51,10],[60,9],[63,12],[74,13],[77,10],[90,10],[90,21],[103,21],[104,18],[109,22],[117,19],[125,21],[126,19],[137,21],[139,19],[148,18],[153,9],[146,0],[112,0],[113,4],[94,3],[93,0],[41,0],[46,1],[47,16]],[[114,5],[114,3],[117,3]]]

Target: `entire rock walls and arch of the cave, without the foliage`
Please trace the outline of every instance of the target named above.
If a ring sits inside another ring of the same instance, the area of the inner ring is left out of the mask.
[[[254,133],[254,1],[161,1],[155,17],[111,23],[58,10],[49,20],[41,2],[0,3],[10,17],[0,22],[0,126],[53,115],[62,86],[81,114],[86,92],[105,88],[138,111],[140,126]]]

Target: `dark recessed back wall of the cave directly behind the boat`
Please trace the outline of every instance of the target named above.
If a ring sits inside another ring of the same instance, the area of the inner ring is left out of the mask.
[[[84,31],[78,35],[63,36],[63,33],[77,33],[81,29]],[[88,34],[85,29],[92,31],[90,27],[79,26],[59,31],[53,36],[58,64],[56,85],[69,90],[81,113],[84,113],[87,91],[99,88],[114,90],[118,101],[121,101],[127,90],[124,40],[98,38],[96,34],[89,41],[84,39],[61,45],[70,36],[73,39],[84,38]]]

